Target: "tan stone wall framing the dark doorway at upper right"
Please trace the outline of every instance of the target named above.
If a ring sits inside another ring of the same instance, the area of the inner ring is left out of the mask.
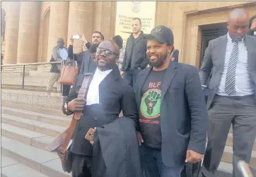
[[[198,66],[199,26],[226,22],[233,8],[246,8],[250,16],[256,14],[255,1],[158,1],[156,25],[173,30],[180,62]]]

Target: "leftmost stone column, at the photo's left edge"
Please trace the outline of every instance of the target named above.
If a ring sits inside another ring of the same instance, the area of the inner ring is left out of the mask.
[[[18,23],[20,19],[19,1],[2,2],[6,4],[5,54],[3,64],[16,64],[18,48]]]

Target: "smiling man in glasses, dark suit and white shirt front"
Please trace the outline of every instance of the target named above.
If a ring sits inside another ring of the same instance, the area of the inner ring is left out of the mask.
[[[115,121],[120,111],[137,123],[137,110],[134,92],[127,81],[120,76],[115,62],[119,48],[115,42],[107,40],[100,43],[95,56],[97,69],[89,80],[84,99],[78,99],[78,90],[83,78],[77,78],[74,87],[66,97],[63,111],[70,115],[82,111],[81,119],[74,130],[71,152],[73,153],[73,177],[91,176],[93,146],[84,137],[89,128],[100,127]]]

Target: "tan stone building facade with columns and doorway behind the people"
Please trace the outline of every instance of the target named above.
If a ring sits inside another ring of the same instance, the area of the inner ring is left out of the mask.
[[[134,4],[138,1],[131,1]],[[117,19],[117,1],[2,1],[1,53],[4,64],[50,61],[52,48],[61,37],[69,45],[71,35],[84,34],[88,41],[98,30],[111,39]],[[200,66],[210,39],[226,33],[228,13],[246,8],[256,14],[255,1],[156,1],[153,25],[173,30],[180,62]],[[134,11],[141,8],[132,5]],[[143,4],[141,4],[143,6]],[[152,14],[151,14],[152,15]],[[5,16],[5,17],[4,17]],[[151,24],[152,25],[152,24]],[[81,42],[74,43],[74,51]]]

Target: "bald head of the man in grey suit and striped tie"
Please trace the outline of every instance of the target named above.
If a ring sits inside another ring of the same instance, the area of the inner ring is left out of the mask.
[[[248,13],[243,8],[235,8],[229,14],[228,34],[234,41],[240,41],[248,31]]]

